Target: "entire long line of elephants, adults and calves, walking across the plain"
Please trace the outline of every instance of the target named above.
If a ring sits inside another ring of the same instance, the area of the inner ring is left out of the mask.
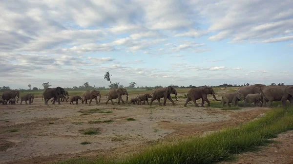
[[[122,104],[125,104],[124,100],[122,99],[122,95],[126,95],[126,103],[128,104],[145,104],[152,105],[154,100],[157,100],[159,105],[162,105],[160,102],[161,98],[164,98],[163,105],[166,106],[167,99],[172,103],[172,105],[175,105],[174,101],[171,98],[170,94],[175,94],[175,99],[178,101],[178,95],[177,91],[174,87],[168,86],[165,88],[157,88],[154,90],[151,94],[138,94],[136,97],[131,98],[128,103],[128,92],[125,88],[119,88],[119,89],[110,89],[106,94],[106,102],[105,104],[108,104],[109,101],[111,101],[111,104],[113,105],[113,99],[118,98],[118,104],[120,104],[120,101]],[[254,105],[261,105],[262,107],[266,107],[266,103],[268,103],[268,107],[272,106],[272,101],[282,101],[282,107],[286,106],[287,100],[289,100],[290,104],[293,104],[293,85],[283,85],[283,86],[266,86],[264,84],[254,84],[251,86],[243,86],[240,87],[237,91],[234,92],[227,92],[222,95],[222,99],[218,100],[216,98],[216,94],[214,90],[211,87],[196,87],[192,88],[187,93],[187,99],[184,104],[184,107],[187,107],[187,104],[189,101],[192,101],[196,107],[199,107],[196,103],[196,100],[201,99],[201,107],[204,106],[204,102],[207,102],[208,107],[210,106],[209,100],[208,100],[208,94],[211,94],[213,98],[216,101],[221,101],[222,107],[226,104],[227,107],[230,107],[230,103],[232,103],[233,106],[238,106],[239,101],[244,102],[244,106],[246,106],[247,103],[253,103]],[[84,104],[91,104],[92,100],[96,100],[96,104],[99,104],[101,101],[101,93],[100,91],[85,91],[82,96],[80,95],[73,95],[70,97],[70,104],[74,104],[76,102],[76,105],[78,104],[78,100],[81,100]],[[47,88],[42,93],[42,100],[44,100],[44,104],[47,105],[48,101],[51,100],[52,104],[55,104],[56,101],[58,101],[58,104],[61,104],[60,102],[66,101],[69,99],[68,91],[65,91],[61,87],[56,88]],[[98,102],[99,98],[99,102]],[[148,103],[148,99],[150,98],[150,103]],[[32,93],[24,94],[20,98],[20,91],[19,90],[9,90],[4,91],[2,93],[2,99],[0,99],[0,104],[15,104],[18,103],[19,99],[22,101],[25,101],[25,104],[27,104],[27,101],[29,104],[33,103],[34,95]],[[87,103],[87,100],[89,100],[89,103]],[[143,101],[143,103],[141,103]]]

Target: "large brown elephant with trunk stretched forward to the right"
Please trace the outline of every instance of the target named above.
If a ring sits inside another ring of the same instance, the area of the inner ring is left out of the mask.
[[[192,88],[188,91],[187,99],[184,104],[184,107],[187,107],[187,103],[191,100],[193,101],[195,107],[199,107],[196,103],[196,100],[198,100],[200,98],[202,99],[201,106],[203,107],[204,103],[206,101],[208,103],[208,107],[209,107],[210,105],[209,105],[209,100],[208,100],[208,96],[207,96],[208,94],[212,94],[213,98],[216,101],[221,101],[221,100],[217,100],[216,94],[211,87],[206,87],[206,86],[205,87],[198,87],[198,88]]]

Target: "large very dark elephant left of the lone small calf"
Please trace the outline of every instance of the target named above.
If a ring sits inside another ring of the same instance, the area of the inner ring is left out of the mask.
[[[61,87],[56,87],[56,88],[47,88],[44,92],[43,92],[43,96],[42,98],[44,99],[45,101],[45,105],[48,105],[48,101],[51,99],[51,98],[54,98],[53,100],[53,103],[52,104],[55,104],[55,101],[58,100],[58,104],[60,104],[60,97],[61,95],[63,95],[65,97],[65,90]]]

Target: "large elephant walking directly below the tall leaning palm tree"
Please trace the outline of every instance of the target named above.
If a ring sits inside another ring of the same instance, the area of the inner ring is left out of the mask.
[[[128,92],[125,88],[118,88],[118,89],[110,89],[108,93],[106,94],[106,98],[108,99],[105,104],[108,104],[108,102],[111,100],[112,105],[113,99],[118,98],[118,104],[120,104],[120,101],[122,101],[122,104],[125,104],[122,95],[126,95],[126,103],[128,103]],[[108,97],[107,97],[108,96]]]

